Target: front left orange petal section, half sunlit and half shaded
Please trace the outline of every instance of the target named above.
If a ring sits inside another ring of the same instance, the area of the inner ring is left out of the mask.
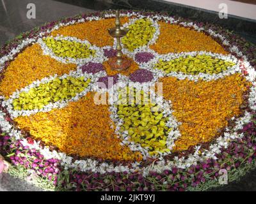
[[[34,138],[67,154],[123,161],[142,159],[140,153],[120,145],[108,105],[95,105],[93,96],[94,93],[89,92],[65,108],[18,117],[15,121]]]

